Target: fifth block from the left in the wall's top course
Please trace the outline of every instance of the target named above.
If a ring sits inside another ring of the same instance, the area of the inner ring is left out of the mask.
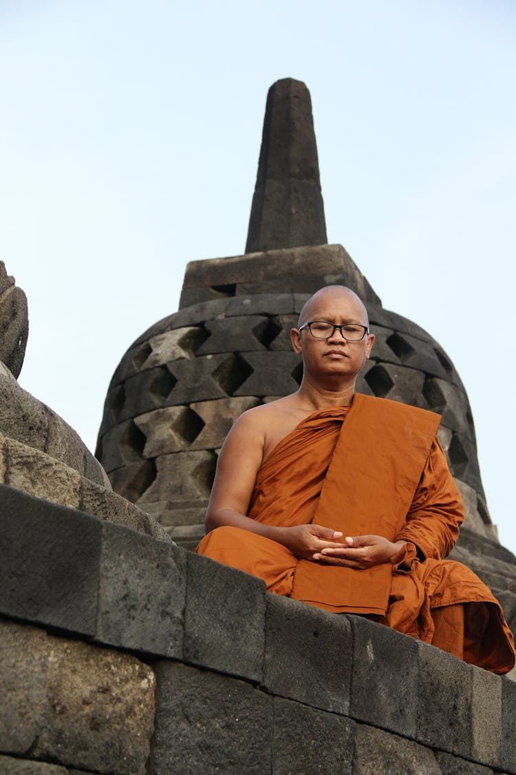
[[[361,616],[347,618],[353,632],[350,715],[414,737],[417,642]]]

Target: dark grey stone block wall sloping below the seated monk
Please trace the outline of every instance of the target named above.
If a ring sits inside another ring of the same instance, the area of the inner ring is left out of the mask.
[[[516,773],[516,684],[0,484],[0,772]]]

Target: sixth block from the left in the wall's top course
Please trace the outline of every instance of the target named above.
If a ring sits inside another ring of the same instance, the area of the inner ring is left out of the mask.
[[[427,643],[419,649],[417,739],[471,758],[473,668]]]

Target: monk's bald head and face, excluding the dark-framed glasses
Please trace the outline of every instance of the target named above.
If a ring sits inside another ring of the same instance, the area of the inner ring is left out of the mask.
[[[327,288],[309,301],[299,325],[312,321],[330,323],[357,323],[367,325],[367,315],[361,301],[352,291]],[[316,339],[309,329],[292,329],[292,346],[302,353],[306,374],[320,377],[355,377],[369,358],[374,335],[366,334],[360,342],[343,339],[335,329],[330,339]]]

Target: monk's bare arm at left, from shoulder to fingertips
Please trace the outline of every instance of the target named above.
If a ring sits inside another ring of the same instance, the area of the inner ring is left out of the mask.
[[[246,516],[263,457],[267,420],[265,408],[244,412],[227,435],[217,461],[206,514],[206,532],[231,525],[277,541],[305,559],[312,559],[314,553],[326,546],[344,546],[335,543],[342,533],[321,525],[281,527]]]

